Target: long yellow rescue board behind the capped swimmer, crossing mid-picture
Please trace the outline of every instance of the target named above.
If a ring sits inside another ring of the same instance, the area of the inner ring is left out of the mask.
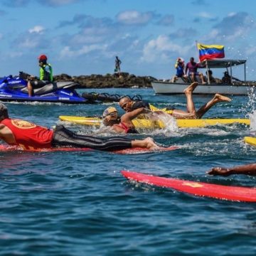
[[[60,120],[73,122],[75,124],[100,126],[102,119],[100,117],[74,117],[74,116],[60,116]],[[141,129],[163,129],[166,127],[161,120],[149,120],[149,119],[134,119],[133,124],[136,128]],[[246,124],[250,125],[250,119],[176,119],[178,127],[206,127],[208,125],[217,124]]]

